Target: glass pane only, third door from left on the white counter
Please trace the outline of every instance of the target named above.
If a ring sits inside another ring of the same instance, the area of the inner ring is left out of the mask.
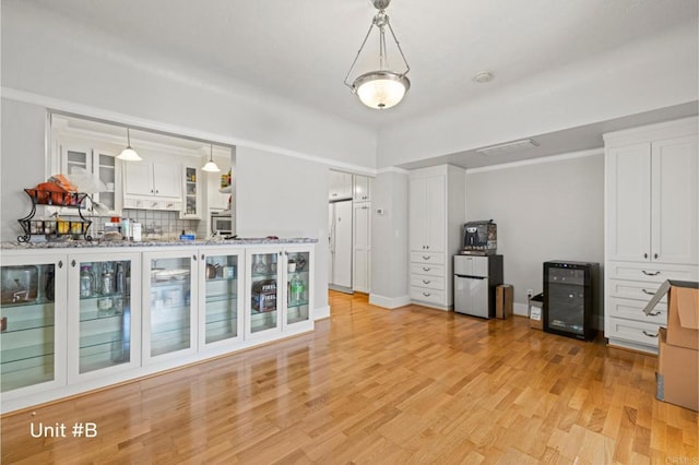
[[[151,260],[151,356],[190,347],[189,258]]]

